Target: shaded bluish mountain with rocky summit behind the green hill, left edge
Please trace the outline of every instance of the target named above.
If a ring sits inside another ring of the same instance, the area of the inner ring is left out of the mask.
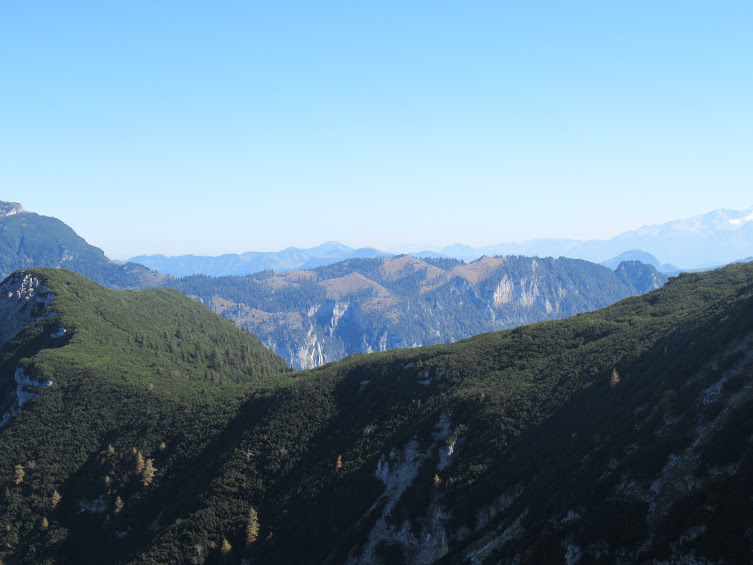
[[[12,211],[0,210],[0,278],[18,269],[60,267],[112,288],[150,288],[166,280],[143,265],[110,261],[57,218],[26,212],[20,204],[0,204]]]

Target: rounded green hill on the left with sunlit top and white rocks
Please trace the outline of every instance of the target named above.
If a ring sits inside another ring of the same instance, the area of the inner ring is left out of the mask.
[[[108,513],[128,531],[188,503],[244,396],[286,371],[173,290],[38,269],[2,283],[0,310],[13,322],[0,349],[3,563],[112,562]]]

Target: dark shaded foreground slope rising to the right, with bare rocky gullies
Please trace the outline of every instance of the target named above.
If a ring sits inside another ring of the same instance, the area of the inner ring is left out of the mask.
[[[745,560],[752,314],[735,265],[299,373],[241,407],[207,490],[136,562]]]

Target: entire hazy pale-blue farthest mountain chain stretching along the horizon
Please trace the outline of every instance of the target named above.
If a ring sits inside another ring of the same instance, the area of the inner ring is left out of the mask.
[[[401,252],[384,252],[371,247],[353,249],[342,243],[328,242],[310,249],[290,247],[279,252],[248,252],[218,257],[141,255],[129,261],[177,277],[191,274],[222,276],[263,270],[310,269],[346,259],[390,257],[395,254]],[[713,268],[753,255],[753,208],[744,211],[714,210],[701,216],[644,226],[608,240],[534,239],[485,247],[456,244],[440,251],[425,250],[409,254],[421,259],[456,258],[465,261],[482,256],[506,255],[570,257],[607,264],[611,268],[615,268],[622,259],[642,260],[653,264],[661,272],[678,273],[683,269]],[[646,261],[640,259],[641,256],[654,259]]]

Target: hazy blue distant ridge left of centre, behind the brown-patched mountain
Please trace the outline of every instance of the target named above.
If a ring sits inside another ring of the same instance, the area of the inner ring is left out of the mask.
[[[372,247],[353,249],[336,241],[328,241],[316,247],[300,249],[288,247],[282,251],[249,251],[247,253],[227,253],[217,257],[206,255],[140,255],[129,259],[165,275],[184,277],[188,275],[247,275],[259,271],[294,271],[313,269],[331,265],[346,259],[369,259],[391,257]]]

